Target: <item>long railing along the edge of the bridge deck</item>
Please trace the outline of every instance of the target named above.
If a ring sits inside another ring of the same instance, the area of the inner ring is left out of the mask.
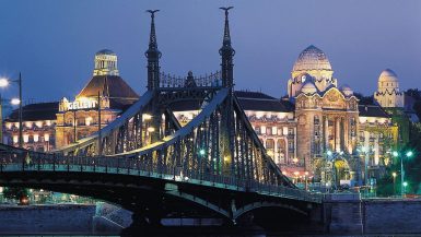
[[[147,176],[176,182],[212,186],[235,191],[320,202],[321,195],[284,186],[274,186],[245,177],[183,170],[179,166],[153,163],[152,159],[116,156],[65,156],[37,152],[0,153],[0,171],[86,171]]]

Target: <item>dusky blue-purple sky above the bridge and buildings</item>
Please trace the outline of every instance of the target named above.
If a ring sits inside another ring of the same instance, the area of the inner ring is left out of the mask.
[[[94,54],[108,48],[118,56],[121,78],[142,94],[148,9],[161,10],[162,71],[214,72],[223,5],[234,5],[236,90],[286,94],[293,63],[312,44],[327,54],[339,84],[355,92],[372,94],[386,68],[398,74],[401,90],[421,87],[419,0],[0,0],[0,75],[22,71],[24,99],[73,98],[92,76]],[[12,97],[17,88],[1,92]]]

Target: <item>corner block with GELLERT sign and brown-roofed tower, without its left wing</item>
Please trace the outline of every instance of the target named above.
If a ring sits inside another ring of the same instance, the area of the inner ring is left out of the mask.
[[[96,132],[138,100],[139,95],[119,76],[117,62],[117,55],[109,49],[96,52],[91,80],[73,102],[66,97],[60,100],[57,147]]]

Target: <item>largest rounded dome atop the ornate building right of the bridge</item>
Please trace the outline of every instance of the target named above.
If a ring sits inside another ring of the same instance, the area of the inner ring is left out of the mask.
[[[331,71],[331,66],[327,56],[319,48],[311,45],[304,49],[292,69],[293,71],[327,70]]]

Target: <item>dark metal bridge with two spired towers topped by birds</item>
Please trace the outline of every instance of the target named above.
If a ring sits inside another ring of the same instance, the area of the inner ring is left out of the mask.
[[[0,186],[93,197],[133,211],[133,221],[207,213],[235,223],[246,213],[280,208],[301,215],[321,197],[282,175],[234,95],[235,50],[225,13],[221,69],[203,76],[165,74],[160,68],[151,13],[148,90],[96,133],[54,153],[0,145]],[[180,126],[176,103],[200,112]]]

